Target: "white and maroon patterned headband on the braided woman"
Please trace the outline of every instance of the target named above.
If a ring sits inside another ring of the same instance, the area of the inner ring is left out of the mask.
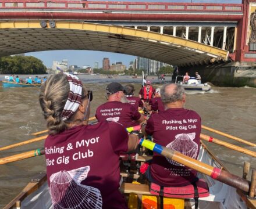
[[[68,120],[76,112],[81,104],[82,83],[76,75],[66,74],[67,81],[69,82],[69,96],[67,98],[64,109],[62,110],[62,120]]]

